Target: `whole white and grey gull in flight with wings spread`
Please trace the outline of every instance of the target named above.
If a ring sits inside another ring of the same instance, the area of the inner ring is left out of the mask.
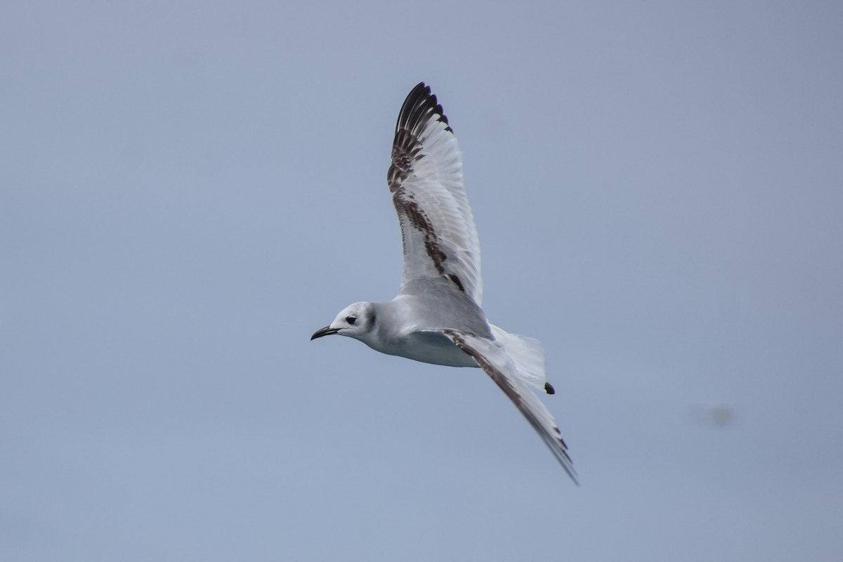
[[[554,393],[538,340],[490,324],[481,309],[480,243],[448,118],[419,83],[401,106],[386,174],[404,241],[404,273],[389,302],[355,302],[310,338],[346,335],[375,351],[451,367],[481,367],[577,482],[559,427],[530,387]]]

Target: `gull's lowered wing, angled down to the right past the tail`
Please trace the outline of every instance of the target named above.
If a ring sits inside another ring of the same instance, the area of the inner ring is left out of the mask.
[[[577,473],[574,471],[571,458],[568,457],[568,447],[559,433],[559,427],[545,408],[545,404],[542,404],[540,399],[524,384],[521,377],[518,377],[515,364],[506,351],[503,351],[495,342],[469,332],[444,329],[443,334],[458,345],[459,349],[473,357],[491,380],[501,387],[513,404],[521,410],[533,429],[539,433],[542,441],[562,468],[565,468],[568,476],[579,485]]]

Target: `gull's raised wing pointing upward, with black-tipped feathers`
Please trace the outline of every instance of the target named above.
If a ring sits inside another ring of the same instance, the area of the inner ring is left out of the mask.
[[[404,241],[401,286],[445,277],[481,304],[480,243],[463,190],[463,157],[430,87],[401,106],[386,176]]]

